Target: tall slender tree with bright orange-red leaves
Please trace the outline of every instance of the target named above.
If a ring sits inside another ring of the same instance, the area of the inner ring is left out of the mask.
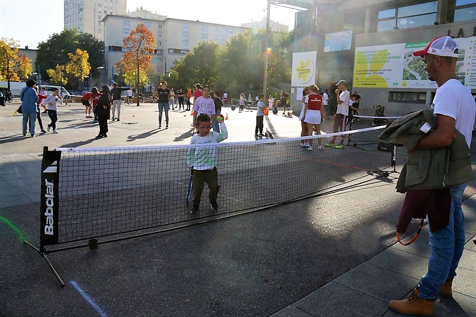
[[[120,63],[117,65],[123,73],[133,71],[136,74],[135,88],[137,93],[141,91],[139,76],[141,72],[146,72],[150,68],[150,60],[155,50],[154,34],[143,24],[130,31],[128,37],[122,40],[123,47],[129,49],[124,53]],[[137,98],[139,106],[139,98]]]

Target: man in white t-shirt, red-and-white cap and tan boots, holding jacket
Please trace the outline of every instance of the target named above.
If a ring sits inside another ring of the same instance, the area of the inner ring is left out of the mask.
[[[435,131],[420,139],[416,149],[432,150],[447,147],[453,141],[455,128],[471,146],[476,105],[469,89],[456,79],[458,45],[449,36],[432,40],[424,50],[413,53],[424,58],[428,78],[438,85],[431,107],[438,120]],[[465,246],[464,215],[461,209],[466,184],[451,187],[449,224],[429,233],[431,253],[428,271],[420,279],[409,299],[389,303],[391,310],[405,315],[433,315],[438,295],[452,297],[456,267]],[[431,223],[430,223],[431,226]]]

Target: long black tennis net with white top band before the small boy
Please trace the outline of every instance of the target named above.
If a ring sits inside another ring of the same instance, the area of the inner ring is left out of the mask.
[[[381,177],[378,171],[392,165],[392,155],[377,150],[383,128],[207,145],[45,149],[42,251],[47,245],[127,236],[254,211],[336,190],[360,178]],[[333,137],[336,143],[344,139],[346,146],[325,147]],[[300,146],[309,138],[313,151]],[[205,184],[199,212],[190,213],[190,151],[216,157],[218,210],[211,209]]]

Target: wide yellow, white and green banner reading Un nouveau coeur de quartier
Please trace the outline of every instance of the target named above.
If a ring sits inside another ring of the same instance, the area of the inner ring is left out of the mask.
[[[455,39],[459,47],[456,77],[476,89],[476,37]],[[356,48],[354,87],[437,88],[428,79],[423,58],[413,52],[429,41]]]

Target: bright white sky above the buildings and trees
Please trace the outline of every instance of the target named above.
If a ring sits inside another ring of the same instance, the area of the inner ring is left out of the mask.
[[[127,0],[127,9],[133,11],[142,6],[169,18],[239,26],[265,17],[266,4],[267,0]],[[63,0],[0,0],[0,7],[0,38],[18,40],[21,48],[36,49],[38,43],[63,29]],[[295,12],[272,5],[270,18],[288,24],[291,30]]]

